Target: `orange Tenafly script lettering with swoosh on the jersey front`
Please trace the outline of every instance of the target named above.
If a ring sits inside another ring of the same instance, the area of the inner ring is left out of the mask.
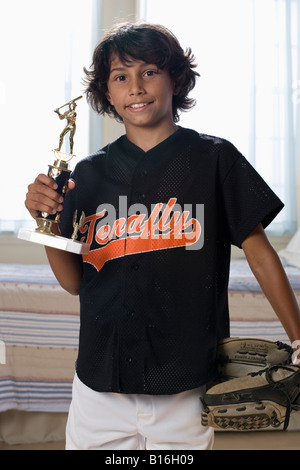
[[[201,223],[191,217],[191,209],[182,211],[176,202],[176,198],[172,198],[167,204],[155,204],[149,217],[145,208],[143,213],[139,210],[139,214],[129,215],[129,210],[118,219],[114,208],[103,204],[99,212],[86,217],[80,229],[86,234],[87,243],[95,239],[99,246],[83,255],[83,261],[100,271],[107,261],[122,256],[195,246],[202,233]]]

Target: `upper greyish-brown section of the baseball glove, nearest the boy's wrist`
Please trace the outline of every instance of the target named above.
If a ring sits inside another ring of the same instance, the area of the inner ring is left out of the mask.
[[[225,338],[218,344],[219,381],[243,377],[272,365],[290,364],[291,346],[259,338]]]

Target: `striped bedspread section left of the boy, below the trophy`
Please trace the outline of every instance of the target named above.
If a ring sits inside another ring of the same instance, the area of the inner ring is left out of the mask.
[[[78,298],[48,265],[0,265],[0,411],[68,411],[78,330]]]

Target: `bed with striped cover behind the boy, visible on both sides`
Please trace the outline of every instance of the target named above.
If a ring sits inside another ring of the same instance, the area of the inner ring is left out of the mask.
[[[300,269],[283,264],[300,304]],[[245,259],[232,261],[229,305],[231,336],[289,343]],[[0,264],[0,441],[63,438],[78,331],[78,298],[48,265]]]

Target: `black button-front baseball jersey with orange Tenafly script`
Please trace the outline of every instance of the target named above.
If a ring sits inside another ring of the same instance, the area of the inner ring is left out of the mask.
[[[173,394],[216,376],[229,336],[230,245],[283,204],[229,142],[179,129],[80,161],[61,217],[86,220],[76,370],[96,391]]]

